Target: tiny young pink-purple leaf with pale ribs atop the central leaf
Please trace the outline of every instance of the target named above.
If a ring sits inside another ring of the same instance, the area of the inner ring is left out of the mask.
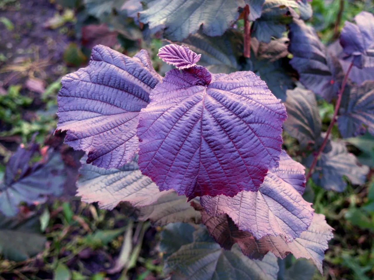
[[[159,50],[158,56],[168,64],[179,69],[191,68],[199,61],[200,56],[185,46],[175,44],[166,45]]]

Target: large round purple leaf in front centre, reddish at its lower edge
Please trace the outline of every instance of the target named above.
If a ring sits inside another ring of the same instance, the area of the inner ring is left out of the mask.
[[[200,82],[173,69],[151,92],[138,125],[140,170],[190,199],[257,191],[278,166],[284,105],[250,71]]]

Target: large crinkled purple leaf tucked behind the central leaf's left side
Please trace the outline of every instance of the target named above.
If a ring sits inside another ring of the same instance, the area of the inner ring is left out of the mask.
[[[62,78],[57,130],[67,130],[69,146],[88,152],[87,163],[121,167],[138,149],[139,112],[160,80],[146,51],[130,58],[96,46],[86,68]]]

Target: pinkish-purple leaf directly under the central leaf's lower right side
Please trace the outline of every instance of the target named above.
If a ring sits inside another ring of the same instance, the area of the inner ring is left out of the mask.
[[[269,170],[257,192],[202,196],[200,203],[211,215],[228,214],[240,230],[256,239],[282,234],[292,241],[312,222],[314,210],[302,197],[304,189],[303,165],[283,151],[279,167]]]

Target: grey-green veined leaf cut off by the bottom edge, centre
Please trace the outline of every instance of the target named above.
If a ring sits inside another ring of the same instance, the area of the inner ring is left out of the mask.
[[[223,251],[205,227],[193,233],[192,243],[172,253],[164,267],[165,273],[173,272],[171,280],[276,280],[278,270],[277,258],[272,253],[256,261],[244,256],[237,246]]]

